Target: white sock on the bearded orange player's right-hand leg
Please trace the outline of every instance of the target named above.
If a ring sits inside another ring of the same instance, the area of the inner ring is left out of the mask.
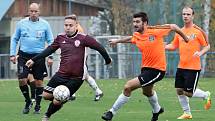
[[[148,97],[149,103],[151,104],[153,113],[158,113],[161,109],[161,106],[158,103],[157,93],[154,91],[154,95]]]

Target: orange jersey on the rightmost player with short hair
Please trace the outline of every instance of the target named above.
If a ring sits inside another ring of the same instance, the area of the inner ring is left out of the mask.
[[[188,43],[185,43],[178,34],[172,41],[173,46],[179,48],[180,62],[178,68],[201,70],[201,59],[194,56],[194,53],[200,51],[202,46],[208,45],[204,33],[195,27],[182,28],[182,32],[189,38]]]

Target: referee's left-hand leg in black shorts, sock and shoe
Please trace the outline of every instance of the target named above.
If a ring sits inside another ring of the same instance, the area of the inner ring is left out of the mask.
[[[25,66],[26,59],[23,58],[22,54],[20,54],[18,58],[18,79],[19,79],[19,88],[25,97],[25,107],[23,109],[23,114],[28,114],[31,107],[32,107],[32,102],[29,94],[29,88],[27,84],[27,76],[29,69],[27,66]]]

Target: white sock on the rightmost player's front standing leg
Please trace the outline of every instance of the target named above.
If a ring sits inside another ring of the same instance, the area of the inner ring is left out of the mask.
[[[183,111],[187,114],[191,114],[189,98],[185,95],[178,95],[178,100],[179,100],[179,103],[181,104]]]

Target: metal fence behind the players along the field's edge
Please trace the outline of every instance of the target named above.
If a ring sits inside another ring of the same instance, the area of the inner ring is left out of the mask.
[[[105,46],[113,59],[111,65],[105,65],[102,56],[89,49],[88,55],[88,71],[90,75],[96,79],[108,78],[133,78],[140,74],[141,53],[132,44],[118,44],[116,47],[109,47],[108,40],[111,38],[121,38],[121,36],[99,36],[97,40]],[[177,52],[167,52],[167,71],[166,77],[175,75],[179,56]],[[54,64],[49,68],[49,76],[52,76],[59,67],[60,51],[54,54]],[[16,78],[17,67],[9,61],[8,54],[0,54],[0,78]],[[204,77],[215,77],[215,52],[207,53],[205,71],[202,73]]]

